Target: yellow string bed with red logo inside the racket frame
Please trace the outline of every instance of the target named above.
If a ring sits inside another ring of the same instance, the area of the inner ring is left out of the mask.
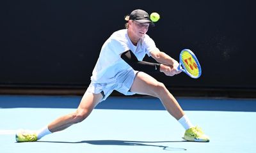
[[[185,51],[185,52],[182,52],[181,59],[185,66],[185,69],[191,75],[197,77],[199,75],[199,69],[193,56],[189,54],[189,52]]]

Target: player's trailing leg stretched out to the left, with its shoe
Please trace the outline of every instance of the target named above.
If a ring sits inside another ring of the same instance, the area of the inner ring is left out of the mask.
[[[102,100],[103,96],[101,93],[93,94],[92,92],[85,92],[81,102],[76,110],[76,112],[69,113],[67,115],[63,115],[62,117],[51,122],[47,127],[46,131],[49,133],[54,133],[56,131],[61,131],[63,129],[72,126],[78,122],[83,121],[90,115],[93,108]],[[44,130],[44,131],[45,131]],[[16,141],[17,142],[35,142],[36,140],[42,138],[43,135],[40,135],[38,131],[28,131],[28,130],[20,130],[16,133]]]

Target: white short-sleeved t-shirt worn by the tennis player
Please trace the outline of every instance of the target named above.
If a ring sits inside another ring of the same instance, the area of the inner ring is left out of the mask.
[[[146,54],[150,56],[150,51],[156,50],[156,44],[145,34],[144,38],[138,41],[137,46],[134,46],[127,34],[127,29],[116,31],[100,50],[99,59],[93,69],[92,82],[111,84],[118,80],[118,76],[131,70],[131,66],[121,58],[121,54],[127,50],[131,50],[137,59],[142,61]]]

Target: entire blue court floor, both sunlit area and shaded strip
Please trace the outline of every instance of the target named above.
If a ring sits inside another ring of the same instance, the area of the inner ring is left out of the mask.
[[[209,143],[185,142],[184,129],[156,98],[109,97],[83,122],[38,142],[16,143],[17,129],[39,129],[74,112],[79,96],[0,96],[0,152],[256,152],[256,100],[177,98]]]

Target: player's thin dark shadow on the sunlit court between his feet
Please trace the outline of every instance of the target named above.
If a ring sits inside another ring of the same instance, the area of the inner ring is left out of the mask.
[[[49,141],[38,141],[44,143],[89,143],[91,145],[127,145],[127,146],[146,146],[146,147],[160,147],[164,150],[187,150],[183,148],[175,148],[164,145],[152,145],[145,143],[175,143],[175,142],[187,142],[187,141],[163,141],[163,142],[139,142],[129,140],[84,140],[81,142],[49,142]]]

